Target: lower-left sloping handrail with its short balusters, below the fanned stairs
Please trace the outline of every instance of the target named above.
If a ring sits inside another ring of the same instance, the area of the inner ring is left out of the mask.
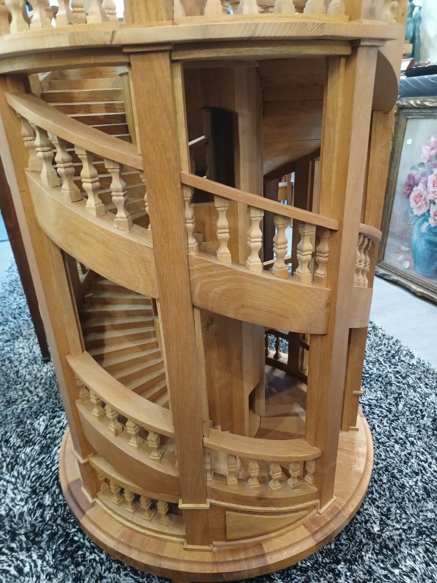
[[[161,436],[174,437],[170,411],[136,395],[87,352],[78,357],[68,356],[67,361],[78,379],[80,400],[92,404],[92,413],[98,422],[105,423],[114,437],[125,431],[129,444],[136,449],[143,448],[146,441],[150,459],[161,462]],[[140,436],[141,430],[147,432],[146,440]]]

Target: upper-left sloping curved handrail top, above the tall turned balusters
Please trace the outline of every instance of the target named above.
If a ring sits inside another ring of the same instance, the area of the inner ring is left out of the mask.
[[[143,170],[143,159],[132,143],[124,142],[80,121],[73,120],[31,93],[5,93],[5,96],[10,107],[31,124],[36,124],[75,146],[90,150],[97,156],[114,160],[136,170]]]

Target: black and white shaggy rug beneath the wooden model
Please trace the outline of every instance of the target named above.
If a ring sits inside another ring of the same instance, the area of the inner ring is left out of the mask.
[[[57,467],[65,416],[15,264],[0,289],[0,339],[0,582],[165,581],[105,554],[68,510]],[[371,325],[363,385],[375,444],[364,503],[318,553],[252,581],[437,581],[437,371]]]

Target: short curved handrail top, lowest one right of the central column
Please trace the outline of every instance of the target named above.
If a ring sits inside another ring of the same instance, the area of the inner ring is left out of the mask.
[[[309,445],[303,439],[260,439],[237,436],[234,433],[225,433],[217,429],[209,430],[209,437],[203,438],[203,445],[208,449],[221,451],[225,454],[270,462],[301,462],[319,458],[321,455],[318,447]]]

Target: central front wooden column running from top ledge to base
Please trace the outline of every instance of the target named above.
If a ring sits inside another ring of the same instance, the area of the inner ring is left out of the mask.
[[[184,87],[181,65],[170,53],[131,56],[138,107],[138,135],[149,196],[150,224],[161,312],[161,338],[174,420],[181,508],[189,545],[209,545],[209,507],[203,454],[203,400],[188,268],[184,197],[179,178],[187,171]],[[181,120],[184,120],[183,125]],[[179,142],[180,140],[180,142]]]

